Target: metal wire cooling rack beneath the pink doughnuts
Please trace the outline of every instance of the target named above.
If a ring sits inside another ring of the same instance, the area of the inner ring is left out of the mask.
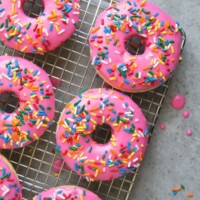
[[[56,97],[56,112],[54,125],[49,128],[40,140],[31,143],[27,147],[14,150],[2,150],[1,152],[11,161],[17,171],[23,186],[23,199],[32,199],[44,189],[59,185],[78,185],[89,189],[99,195],[103,200],[128,200],[133,187],[137,170],[128,175],[103,182],[87,182],[80,176],[64,167],[55,174],[51,167],[53,161],[60,158],[54,152],[56,122],[64,106],[71,101],[80,91],[86,88],[105,87],[103,80],[97,76],[94,66],[90,62],[90,50],[88,35],[96,17],[111,3],[108,0],[81,0],[80,20],[77,30],[70,40],[52,52],[44,56],[23,54],[5,46],[0,46],[0,54],[24,57],[42,67],[48,75],[61,84],[54,87]],[[37,16],[41,10],[41,1],[28,0],[27,15]],[[185,38],[182,47],[184,46]],[[146,93],[130,95],[141,107],[148,119],[149,130],[152,133],[163,104],[170,80],[163,86]],[[107,129],[104,129],[104,141],[96,133],[93,138],[105,142],[107,140]],[[98,131],[97,131],[98,132]]]

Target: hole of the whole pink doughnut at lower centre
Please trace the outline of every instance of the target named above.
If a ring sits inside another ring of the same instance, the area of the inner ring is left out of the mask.
[[[112,128],[106,123],[98,124],[90,136],[96,143],[106,144],[112,137]]]

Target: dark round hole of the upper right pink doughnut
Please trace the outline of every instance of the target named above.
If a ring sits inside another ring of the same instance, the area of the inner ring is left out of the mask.
[[[139,36],[130,36],[125,40],[125,48],[131,55],[142,55],[145,52],[145,39]]]

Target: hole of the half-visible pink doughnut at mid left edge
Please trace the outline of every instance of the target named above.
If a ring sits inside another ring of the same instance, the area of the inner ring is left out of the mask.
[[[0,93],[0,110],[13,113],[19,108],[19,99],[13,92]]]

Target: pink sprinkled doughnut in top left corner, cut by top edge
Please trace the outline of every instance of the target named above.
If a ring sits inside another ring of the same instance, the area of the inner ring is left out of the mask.
[[[25,15],[26,1],[0,1],[2,44],[25,53],[44,54],[57,48],[75,31],[79,0],[43,0],[44,11],[37,18]]]

